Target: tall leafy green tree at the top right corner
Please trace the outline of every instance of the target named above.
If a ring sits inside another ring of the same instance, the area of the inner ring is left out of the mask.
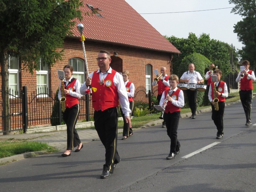
[[[231,13],[239,14],[243,18],[234,26],[234,32],[245,46],[240,54],[243,60],[250,61],[251,67],[256,67],[256,1],[255,0],[230,0],[234,4]]]

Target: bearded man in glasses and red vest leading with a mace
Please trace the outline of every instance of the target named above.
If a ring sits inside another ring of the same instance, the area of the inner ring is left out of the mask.
[[[81,94],[92,87],[92,103],[94,108],[94,126],[99,139],[105,147],[105,164],[100,178],[108,178],[116,164],[120,162],[117,152],[117,120],[118,105],[131,128],[129,101],[123,77],[110,66],[111,57],[108,51],[100,51],[97,57],[99,69],[91,73],[80,88]]]

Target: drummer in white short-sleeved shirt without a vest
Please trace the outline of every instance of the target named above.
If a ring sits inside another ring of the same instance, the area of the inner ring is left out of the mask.
[[[190,63],[188,65],[188,71],[184,72],[180,78],[180,83],[187,83],[187,84],[203,84],[204,80],[199,72],[195,71],[194,63]],[[196,118],[196,111],[197,111],[197,89],[190,90],[187,89],[187,99],[188,105],[191,110],[192,115],[190,118]]]

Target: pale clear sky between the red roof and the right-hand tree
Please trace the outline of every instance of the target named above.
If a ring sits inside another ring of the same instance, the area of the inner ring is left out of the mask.
[[[125,0],[133,9],[148,21],[160,34],[178,38],[187,38],[189,32],[199,37],[202,33],[211,39],[233,44],[242,48],[233,26],[242,17],[230,13],[233,4],[228,0]],[[228,9],[219,9],[228,8]],[[199,11],[219,9],[212,11]],[[181,11],[197,11],[187,13],[169,13]],[[166,14],[143,14],[166,13]]]

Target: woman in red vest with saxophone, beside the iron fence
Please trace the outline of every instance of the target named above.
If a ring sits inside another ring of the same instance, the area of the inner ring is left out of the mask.
[[[58,98],[61,99],[61,87],[64,86],[63,93],[66,97],[65,111],[63,113],[64,122],[67,125],[67,149],[62,154],[62,157],[68,157],[71,155],[71,150],[78,146],[75,152],[79,152],[83,148],[78,133],[75,129],[78,115],[80,113],[80,106],[78,99],[81,98],[80,87],[81,84],[78,79],[73,78],[73,67],[66,65],[63,68],[66,79],[60,81]]]

